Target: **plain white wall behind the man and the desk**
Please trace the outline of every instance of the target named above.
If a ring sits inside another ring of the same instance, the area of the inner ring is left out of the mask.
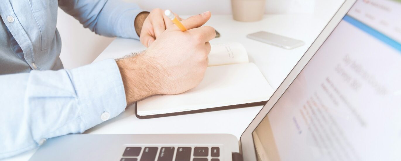
[[[207,10],[213,14],[231,14],[231,0],[125,0],[145,10],[170,9],[179,15]],[[343,0],[266,0],[265,14],[310,14],[319,17],[327,8],[338,7]],[[177,5],[179,4],[179,5]],[[184,7],[183,7],[184,6]],[[327,17],[320,17],[327,19]],[[84,29],[72,16],[59,9],[57,19],[63,47],[61,60],[67,69],[91,63],[115,38],[102,37]],[[79,59],[77,59],[79,58]]]

